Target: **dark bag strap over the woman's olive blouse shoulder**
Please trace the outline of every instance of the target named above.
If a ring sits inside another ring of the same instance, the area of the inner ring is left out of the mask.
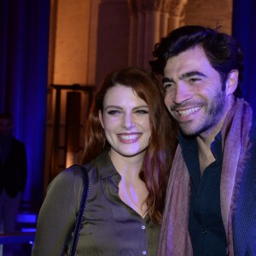
[[[81,197],[81,201],[80,201],[80,206],[79,206],[79,214],[77,217],[77,221],[76,221],[76,225],[75,225],[75,229],[73,232],[73,238],[72,238],[72,242],[71,242],[71,249],[70,249],[70,253],[69,256],[74,256],[75,252],[76,252],[76,248],[79,242],[79,233],[82,227],[82,221],[84,218],[84,212],[85,212],[85,207],[86,207],[86,203],[87,203],[87,199],[88,199],[88,195],[89,195],[89,177],[88,177],[88,173],[85,170],[84,166],[71,166],[71,167],[75,167],[75,168],[80,168],[81,172],[83,173],[83,182],[84,182],[84,189],[83,189],[83,194]]]

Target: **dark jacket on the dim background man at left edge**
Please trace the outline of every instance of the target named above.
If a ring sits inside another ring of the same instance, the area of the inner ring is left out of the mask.
[[[0,160],[0,194],[3,189],[10,197],[15,198],[26,187],[26,148],[15,137],[6,160]]]

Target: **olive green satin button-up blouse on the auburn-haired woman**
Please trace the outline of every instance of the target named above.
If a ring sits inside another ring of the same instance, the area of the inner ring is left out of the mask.
[[[119,173],[108,151],[86,166],[90,192],[76,255],[156,255],[160,225],[142,218],[119,198]],[[32,255],[62,255],[70,243],[83,189],[77,168],[49,184],[40,209]]]

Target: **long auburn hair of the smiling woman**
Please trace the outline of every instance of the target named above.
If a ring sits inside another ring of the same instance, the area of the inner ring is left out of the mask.
[[[165,207],[166,186],[174,152],[177,147],[177,125],[164,105],[164,89],[152,73],[138,67],[125,67],[109,73],[96,93],[85,123],[82,163],[94,160],[109,147],[102,128],[99,111],[103,111],[104,96],[113,86],[130,87],[148,104],[151,136],[148,141],[140,178],[146,183],[148,215],[161,224]]]

